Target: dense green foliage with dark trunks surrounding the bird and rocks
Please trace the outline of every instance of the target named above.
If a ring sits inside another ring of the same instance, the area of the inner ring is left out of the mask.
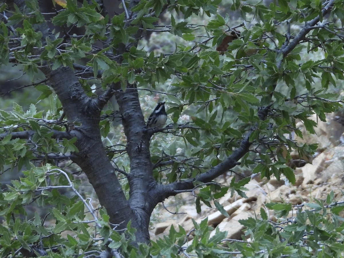
[[[271,203],[280,222],[264,211],[241,222],[250,242],[209,238],[206,220],[155,242],[148,227],[182,192],[197,211],[225,214],[216,199],[244,196],[246,172],[295,182],[290,152],[310,162],[317,148],[295,140],[297,121],[314,133],[310,116],[324,121],[342,103],[343,1],[118,4],[0,3],[1,65],[40,92],[27,110],[20,97],[0,110],[0,177],[16,175],[0,192],[0,256],[340,256],[344,206],[333,195],[293,218],[283,218],[290,204]],[[157,100],[169,119],[147,128]],[[215,183],[227,172],[241,180]]]

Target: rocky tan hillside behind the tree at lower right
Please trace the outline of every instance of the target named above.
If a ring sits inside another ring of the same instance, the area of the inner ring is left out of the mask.
[[[301,168],[296,168],[294,173],[296,177],[295,185],[281,179],[266,180],[260,179],[260,175],[252,175],[251,181],[245,185],[249,190],[246,192],[248,198],[243,198],[237,194],[230,196],[227,193],[219,203],[222,204],[229,215],[229,218],[222,215],[216,208],[202,206],[202,212],[197,214],[194,205],[195,197],[191,193],[184,193],[178,197],[170,197],[164,202],[164,206],[157,208],[154,217],[157,219],[151,228],[151,238],[157,239],[169,233],[171,225],[181,225],[186,232],[193,228],[192,218],[201,222],[208,217],[208,224],[212,227],[218,227],[221,231],[227,231],[227,238],[241,239],[242,226],[238,221],[252,216],[260,215],[260,209],[263,208],[271,221],[276,218],[272,211],[265,205],[269,202],[287,202],[292,205],[309,203],[314,199],[325,200],[326,196],[333,191],[337,201],[344,200],[342,194],[343,171],[344,171],[344,126],[341,125],[341,114],[330,114],[327,121],[318,121],[316,135],[310,135],[304,131],[304,139],[298,139],[300,142],[319,143],[318,150],[313,157],[311,164],[306,164]],[[343,119],[344,121],[344,119]],[[302,123],[298,127],[302,128]],[[218,182],[229,184],[231,178],[222,178]],[[227,182],[226,182],[227,181]],[[180,202],[184,201],[184,205]],[[179,202],[179,203],[178,203]],[[294,206],[294,212],[297,206]],[[171,213],[174,212],[175,214]],[[292,214],[289,214],[292,216]],[[214,232],[215,233],[215,230]],[[191,240],[192,236],[189,237]]]

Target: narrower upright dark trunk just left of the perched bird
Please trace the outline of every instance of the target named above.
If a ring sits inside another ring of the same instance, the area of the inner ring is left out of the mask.
[[[150,214],[156,205],[149,195],[150,189],[156,185],[153,178],[153,164],[150,160],[150,137],[143,133],[145,121],[137,91],[131,88],[126,92],[117,92],[115,95],[127,137],[127,152],[130,159],[129,203],[139,224],[136,237],[139,242],[148,243]]]

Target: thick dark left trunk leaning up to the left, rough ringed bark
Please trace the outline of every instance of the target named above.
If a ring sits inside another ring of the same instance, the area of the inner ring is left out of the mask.
[[[87,175],[100,204],[106,208],[110,216],[110,222],[125,227],[132,219],[133,226],[136,226],[132,209],[101,142],[98,101],[86,96],[71,68],[61,67],[55,71],[43,71],[61,100],[68,123],[75,124],[72,132],[76,132],[75,145],[79,152],[74,153],[73,161]]]

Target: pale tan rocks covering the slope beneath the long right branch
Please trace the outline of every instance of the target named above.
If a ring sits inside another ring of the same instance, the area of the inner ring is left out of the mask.
[[[327,127],[325,126],[326,125],[323,123],[319,126],[319,128],[317,128],[317,130],[319,129],[317,131],[319,134],[314,138],[315,142],[321,141],[320,143],[322,146],[320,148],[329,145],[329,139],[332,137],[332,132],[330,130],[331,128],[329,128],[328,125]],[[326,131],[325,128],[327,128],[328,131]],[[307,137],[308,136],[306,136],[306,138]],[[325,137],[328,139],[324,140]],[[330,141],[332,144],[335,144],[331,139]],[[194,227],[192,218],[199,223],[202,219],[208,216],[209,225],[213,227],[217,226],[221,229],[221,231],[228,231],[228,238],[240,239],[243,235],[244,227],[238,223],[239,219],[246,219],[249,216],[255,216],[255,214],[260,217],[260,211],[261,209],[264,209],[272,221],[277,222],[279,220],[273,211],[270,211],[266,208],[265,204],[268,202],[281,202],[281,199],[283,198],[283,200],[286,202],[289,202],[293,205],[298,205],[303,202],[313,202],[314,198],[318,200],[326,200],[326,197],[331,190],[334,192],[336,201],[344,201],[344,197],[341,193],[341,189],[343,188],[342,184],[344,184],[344,144],[336,147],[332,147],[335,146],[332,144],[329,145],[331,148],[324,150],[318,155],[318,157],[314,158],[312,161],[313,164],[308,164],[306,168],[299,168],[295,170],[296,183],[293,186],[284,185],[283,181],[277,181],[275,179],[261,179],[260,176],[257,175],[245,185],[245,187],[248,189],[248,191],[245,192],[248,198],[242,198],[237,193],[231,197],[229,191],[218,201],[225,207],[227,213],[230,214],[230,218],[223,216],[216,209],[206,207],[203,204],[202,212],[197,214],[194,203],[189,201],[187,205],[181,204],[179,207],[179,211],[186,212],[187,214],[172,215],[162,209],[162,211],[158,211],[159,219],[160,221],[163,221],[173,217],[175,224],[180,224],[188,232]],[[295,152],[293,155],[293,157],[299,159],[298,153]],[[229,183],[229,181],[230,178],[228,178],[227,183]],[[223,180],[221,182],[225,181]],[[261,191],[261,189],[263,191]],[[267,193],[267,195],[265,195],[264,192]],[[190,193],[178,195],[178,198],[171,199],[171,202],[165,202],[165,205],[176,205],[180,202],[180,199],[183,201],[194,200]],[[240,201],[238,201],[239,199]],[[291,211],[288,216],[295,216],[296,212],[297,207],[293,207],[293,211]],[[340,215],[344,216],[344,211]],[[167,226],[167,224],[169,225]],[[171,224],[172,221],[166,221],[165,224],[156,224],[157,226],[150,230],[151,238],[156,238],[155,233],[162,232],[157,237],[168,234]],[[178,227],[175,226],[175,228]],[[213,236],[215,231],[211,232],[211,234]],[[188,239],[188,241],[190,241],[189,243],[192,243],[192,238],[193,236],[190,235]]]

